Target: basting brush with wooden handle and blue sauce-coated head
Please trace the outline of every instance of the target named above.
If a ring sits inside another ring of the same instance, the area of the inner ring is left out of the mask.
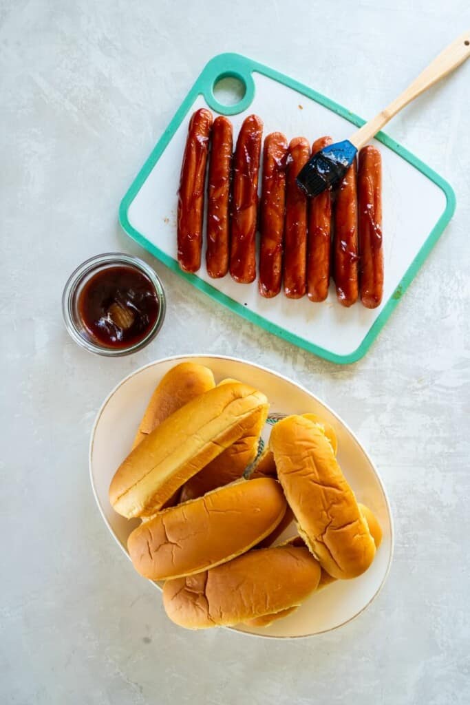
[[[454,68],[460,66],[469,56],[470,32],[466,32],[436,56],[407,90],[375,118],[362,125],[350,140],[328,145],[314,154],[297,176],[299,186],[307,195],[318,196],[326,188],[338,183],[345,176],[347,168],[351,166],[361,147],[364,147],[404,106],[454,71]]]

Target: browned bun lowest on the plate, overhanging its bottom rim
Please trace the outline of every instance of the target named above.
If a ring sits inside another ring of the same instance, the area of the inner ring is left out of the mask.
[[[233,626],[299,605],[316,589],[320,573],[307,548],[255,549],[217,568],[168,580],[163,606],[187,629]]]

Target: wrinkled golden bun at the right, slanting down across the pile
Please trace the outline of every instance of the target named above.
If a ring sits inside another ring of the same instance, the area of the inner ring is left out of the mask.
[[[376,546],[321,429],[305,417],[287,417],[273,427],[270,448],[299,534],[314,556],[333,577],[361,575]]]

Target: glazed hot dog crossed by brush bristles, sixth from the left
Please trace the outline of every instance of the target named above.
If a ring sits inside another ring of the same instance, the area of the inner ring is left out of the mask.
[[[320,137],[311,154],[333,142]],[[327,189],[309,203],[309,245],[307,252],[307,295],[311,301],[324,301],[330,286],[331,191]]]

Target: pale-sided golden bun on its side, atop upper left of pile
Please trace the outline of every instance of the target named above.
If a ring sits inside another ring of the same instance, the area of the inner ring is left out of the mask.
[[[125,517],[150,517],[190,477],[247,436],[267,414],[266,396],[247,384],[214,387],[175,411],[121,463],[109,487]]]

